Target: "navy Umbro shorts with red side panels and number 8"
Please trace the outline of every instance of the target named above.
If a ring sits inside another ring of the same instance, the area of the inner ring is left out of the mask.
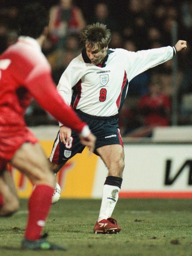
[[[86,122],[91,132],[96,136],[94,153],[98,155],[96,149],[104,145],[120,144],[123,146],[123,141],[119,132],[118,118],[100,117],[86,114],[82,111],[77,111],[78,116],[82,121]],[[60,141],[59,132],[54,141],[50,161],[55,164],[65,164],[70,158],[77,153],[82,153],[85,146],[80,143],[79,135],[72,131],[70,143],[64,144]]]

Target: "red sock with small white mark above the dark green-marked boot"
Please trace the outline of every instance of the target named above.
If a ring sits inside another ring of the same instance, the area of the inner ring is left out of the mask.
[[[28,221],[25,238],[38,240],[48,216],[54,189],[48,185],[37,185],[28,202]]]

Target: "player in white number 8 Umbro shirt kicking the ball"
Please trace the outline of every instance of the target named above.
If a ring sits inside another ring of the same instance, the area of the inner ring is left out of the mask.
[[[87,25],[80,38],[85,48],[64,71],[57,89],[97,137],[94,153],[101,157],[109,170],[94,232],[118,233],[121,228],[111,215],[121,188],[124,150],[115,115],[122,107],[129,82],[135,76],[173,58],[176,52],[187,46],[186,41],[179,40],[174,47],[138,52],[108,49],[111,33],[101,23]],[[83,148],[77,134],[60,123],[50,155],[55,172]]]

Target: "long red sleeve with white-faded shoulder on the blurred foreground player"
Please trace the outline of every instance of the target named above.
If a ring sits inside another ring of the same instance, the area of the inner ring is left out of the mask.
[[[10,51],[12,75],[25,86],[39,105],[56,120],[80,133],[86,123],[61,98],[51,77],[50,65],[43,53],[25,46]],[[8,54],[9,56],[9,54]]]

